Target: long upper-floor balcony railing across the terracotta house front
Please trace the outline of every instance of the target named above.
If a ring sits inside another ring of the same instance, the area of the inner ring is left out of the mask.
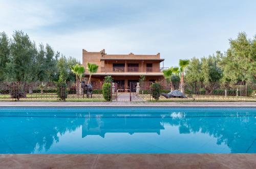
[[[163,70],[168,69],[167,67],[161,67],[159,69],[153,68],[153,67],[146,67],[141,69],[141,67],[101,67],[100,71],[97,73],[122,73],[122,72],[129,72],[129,73],[136,73],[136,72],[142,72],[142,73],[160,73]],[[86,73],[88,73],[88,70],[86,70]]]

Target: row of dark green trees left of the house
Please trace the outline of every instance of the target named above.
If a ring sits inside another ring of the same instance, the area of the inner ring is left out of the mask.
[[[70,65],[77,60],[59,58],[49,44],[37,47],[22,31],[14,31],[10,39],[0,33],[0,81],[58,81],[60,74],[74,81]]]

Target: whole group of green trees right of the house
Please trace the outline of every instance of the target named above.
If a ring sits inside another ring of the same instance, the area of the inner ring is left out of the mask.
[[[185,71],[187,82],[215,81],[256,81],[256,35],[247,38],[242,32],[236,39],[229,39],[229,48],[225,53],[193,58]]]

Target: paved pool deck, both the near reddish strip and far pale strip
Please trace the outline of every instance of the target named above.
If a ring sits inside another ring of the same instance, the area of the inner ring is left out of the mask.
[[[256,107],[256,102],[0,102],[0,106]],[[256,168],[256,154],[0,154],[0,168]]]

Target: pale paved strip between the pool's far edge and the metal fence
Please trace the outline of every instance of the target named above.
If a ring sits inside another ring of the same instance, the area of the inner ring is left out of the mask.
[[[231,106],[256,107],[256,102],[0,102],[0,106]]]

